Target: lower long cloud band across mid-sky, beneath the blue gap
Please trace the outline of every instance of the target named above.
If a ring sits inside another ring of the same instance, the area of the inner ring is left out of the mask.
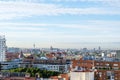
[[[87,24],[86,24],[87,23]],[[88,20],[79,24],[56,24],[56,23],[0,23],[1,30],[18,30],[18,31],[46,31],[50,28],[72,28],[87,31],[101,32],[118,32],[120,21]]]

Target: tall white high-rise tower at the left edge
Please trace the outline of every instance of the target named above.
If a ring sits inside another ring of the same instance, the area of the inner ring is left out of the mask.
[[[0,62],[5,61],[6,39],[5,36],[0,36]]]

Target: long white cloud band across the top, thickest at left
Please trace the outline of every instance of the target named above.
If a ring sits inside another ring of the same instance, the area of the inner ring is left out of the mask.
[[[0,2],[0,20],[31,16],[69,15],[120,15],[120,10],[104,8],[66,8],[55,4]]]

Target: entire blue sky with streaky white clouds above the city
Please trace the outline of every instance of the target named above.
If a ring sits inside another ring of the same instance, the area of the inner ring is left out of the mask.
[[[120,0],[0,0],[8,47],[120,49]]]

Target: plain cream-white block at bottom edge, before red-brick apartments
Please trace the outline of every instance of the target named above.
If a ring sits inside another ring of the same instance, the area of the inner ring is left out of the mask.
[[[94,80],[94,72],[71,72],[70,80]]]

